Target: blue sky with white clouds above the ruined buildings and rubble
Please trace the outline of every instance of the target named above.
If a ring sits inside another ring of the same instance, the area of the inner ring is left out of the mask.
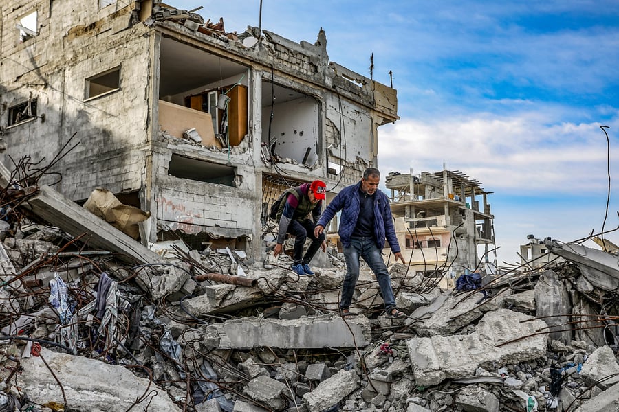
[[[259,0],[169,3],[228,32],[259,26]],[[375,80],[393,72],[401,119],[379,128],[380,171],[447,163],[483,183],[499,264],[528,234],[619,226],[618,1],[264,0],[261,25],[311,43],[322,27],[330,60],[369,77],[373,54]]]

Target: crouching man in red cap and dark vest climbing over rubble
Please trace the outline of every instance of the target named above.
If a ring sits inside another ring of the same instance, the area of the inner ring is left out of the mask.
[[[301,186],[286,190],[285,201],[279,205],[275,220],[279,221],[277,244],[273,252],[279,255],[283,250],[283,241],[286,233],[294,236],[294,253],[292,255],[292,270],[300,276],[314,275],[310,269],[310,261],[318,249],[325,251],[325,233],[314,235],[314,227],[321,217],[323,201],[327,194],[325,182],[315,180],[312,183],[303,183]],[[310,220],[310,213],[312,219]],[[312,242],[303,255],[305,240],[309,237]]]

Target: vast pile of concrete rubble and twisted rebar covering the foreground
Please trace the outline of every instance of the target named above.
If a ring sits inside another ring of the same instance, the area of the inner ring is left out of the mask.
[[[616,255],[549,241],[563,262],[466,292],[394,264],[408,316],[384,314],[365,271],[344,319],[334,251],[332,268],[305,277],[285,256],[265,268],[210,247],[166,244],[142,262],[136,241],[129,256],[92,247],[61,229],[73,227],[66,217],[44,225],[27,196],[11,199],[0,221],[0,411],[618,407]]]

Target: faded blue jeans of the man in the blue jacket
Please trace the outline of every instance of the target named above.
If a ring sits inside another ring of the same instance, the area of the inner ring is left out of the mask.
[[[384,300],[384,308],[387,310],[395,308],[391,277],[374,238],[351,238],[350,246],[344,248],[344,258],[346,260],[346,277],[342,285],[340,308],[349,308],[352,302],[352,295],[359,279],[359,258],[363,258],[376,275],[380,294],[382,300]]]

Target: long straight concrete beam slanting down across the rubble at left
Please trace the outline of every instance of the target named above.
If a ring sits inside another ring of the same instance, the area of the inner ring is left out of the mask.
[[[83,242],[98,249],[119,254],[119,258],[130,264],[169,263],[157,253],[144,247],[137,240],[125,235],[105,220],[91,214],[77,203],[49,186],[42,186],[36,195],[28,200],[32,212],[63,231],[81,238]]]

